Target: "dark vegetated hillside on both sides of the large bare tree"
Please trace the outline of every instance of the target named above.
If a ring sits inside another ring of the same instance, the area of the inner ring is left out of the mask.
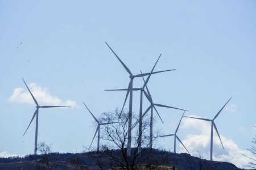
[[[27,155],[24,158],[9,157],[0,158],[0,169],[109,169],[111,164],[109,159],[100,160],[103,152],[84,152],[84,153],[49,153],[42,155]],[[210,162],[189,154],[174,154],[172,152],[154,150],[154,157],[144,160],[142,165],[147,169],[160,169],[154,166],[160,159],[164,158],[163,165],[175,167],[175,169],[220,169],[237,170],[235,165],[228,162]],[[97,160],[98,159],[98,160]],[[99,166],[99,160],[101,165]],[[102,167],[103,166],[103,167]],[[100,168],[101,167],[101,168]],[[141,167],[135,167],[141,169]],[[166,169],[166,168],[162,168]]]

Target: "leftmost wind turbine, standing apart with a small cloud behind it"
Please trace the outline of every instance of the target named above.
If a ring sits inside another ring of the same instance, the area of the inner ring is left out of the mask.
[[[24,79],[22,78],[23,82],[25,83]],[[27,87],[27,84],[25,83],[26,87]],[[46,105],[46,106],[40,106],[38,104],[38,101],[36,101],[35,97],[32,95],[30,89],[27,87],[28,91],[30,92],[30,95],[32,96],[33,100],[35,101],[35,104],[36,104],[36,111],[30,121],[30,124],[31,122],[34,120],[35,116],[36,116],[36,130],[35,130],[35,150],[34,150],[34,155],[36,155],[36,151],[38,150],[37,146],[38,146],[38,111],[39,111],[39,108],[71,108],[71,107],[65,107],[65,106],[49,106],[49,105]],[[27,130],[28,128],[30,127],[30,124],[28,125],[27,127]],[[26,134],[27,130],[25,131],[25,133],[23,134],[23,136]]]

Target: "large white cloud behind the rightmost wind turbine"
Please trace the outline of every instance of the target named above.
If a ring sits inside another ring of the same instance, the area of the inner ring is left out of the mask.
[[[198,117],[191,115],[191,117]],[[192,118],[183,118],[183,129],[192,130],[193,133],[189,134],[182,141],[189,152],[199,151],[204,159],[210,158],[210,122],[203,120],[196,120]],[[218,128],[218,127],[217,127]],[[242,168],[247,165],[249,159],[243,155],[255,158],[248,150],[241,150],[232,139],[228,139],[220,134],[224,150],[222,148],[220,139],[213,129],[213,160],[221,162],[230,162],[237,167]],[[186,152],[183,146],[180,145],[180,152]]]

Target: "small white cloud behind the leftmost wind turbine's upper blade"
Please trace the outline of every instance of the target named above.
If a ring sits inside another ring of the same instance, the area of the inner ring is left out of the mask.
[[[63,105],[71,107],[77,106],[76,101],[62,101],[59,99],[59,97],[55,97],[49,94],[46,88],[36,86],[35,83],[30,83],[28,88],[30,88],[31,93],[35,97],[36,101],[38,101],[39,105]],[[35,105],[30,92],[20,87],[14,89],[13,95],[11,95],[8,100],[16,103],[27,103],[30,105]]]

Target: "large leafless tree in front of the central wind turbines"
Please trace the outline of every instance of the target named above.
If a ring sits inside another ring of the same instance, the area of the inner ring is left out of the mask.
[[[103,113],[101,122],[118,122],[116,124],[106,124],[102,126],[101,138],[105,141],[99,152],[91,155],[101,169],[138,169],[138,165],[150,165],[148,169],[154,169],[158,165],[168,162],[168,153],[160,152],[158,149],[150,148],[149,132],[150,120],[143,118],[142,128],[138,128],[139,118],[133,114],[131,138],[133,147],[130,156],[127,156],[128,134],[129,134],[129,114],[119,113],[116,109],[114,113]],[[139,130],[141,129],[141,131]],[[156,132],[158,133],[158,132]],[[141,138],[141,142],[140,142]],[[156,139],[156,138],[155,138]],[[141,147],[141,150],[139,150]],[[159,154],[162,153],[162,154]],[[165,154],[163,154],[165,153]]]

